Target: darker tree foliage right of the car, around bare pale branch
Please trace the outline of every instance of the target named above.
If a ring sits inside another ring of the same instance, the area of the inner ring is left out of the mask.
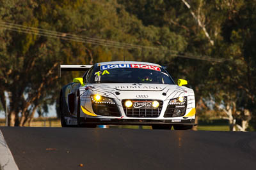
[[[212,101],[211,107],[222,107],[215,110],[228,113],[225,110],[228,108],[230,124],[243,126],[243,121],[248,123],[252,118],[254,125],[254,1],[185,1],[190,9],[186,8],[183,0],[118,2],[125,4],[125,9],[140,18],[144,25],[168,27],[175,34],[183,35],[188,44],[183,50],[185,53],[226,59],[223,63],[211,63],[176,58],[163,64],[169,66],[175,80],[178,77],[188,79],[189,85],[195,89],[196,110],[199,113],[203,111],[203,117],[211,113],[205,109],[210,109],[206,103]]]

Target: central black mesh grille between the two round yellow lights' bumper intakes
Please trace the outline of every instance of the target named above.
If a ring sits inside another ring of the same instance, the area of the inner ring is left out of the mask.
[[[129,99],[132,101],[132,103],[134,101],[145,101],[145,102],[153,102],[156,100],[145,100],[145,99]],[[122,106],[124,108],[124,113],[127,117],[143,117],[143,118],[148,118],[148,117],[159,117],[162,107],[163,107],[163,101],[158,101],[159,102],[159,106],[158,108],[152,108],[152,109],[140,109],[140,108],[127,108],[125,106],[125,101],[122,101]]]

